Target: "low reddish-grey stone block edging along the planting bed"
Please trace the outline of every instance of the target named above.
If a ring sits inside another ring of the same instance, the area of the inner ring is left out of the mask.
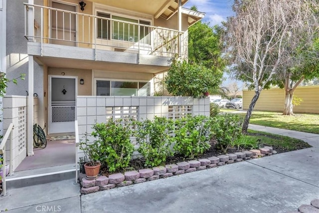
[[[146,181],[154,181],[160,178],[168,178],[175,175],[182,175],[185,173],[223,166],[225,164],[270,156],[273,153],[276,152],[273,151],[272,147],[264,147],[259,150],[236,152],[207,159],[179,162],[177,164],[159,166],[152,169],[125,172],[124,174],[117,173],[109,175],[108,177],[99,176],[96,180],[86,180],[85,174],[80,174],[79,180],[81,183],[81,194],[90,194],[98,191],[110,190],[116,187],[129,186]]]

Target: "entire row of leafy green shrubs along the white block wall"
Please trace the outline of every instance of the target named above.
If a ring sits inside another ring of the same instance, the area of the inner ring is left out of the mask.
[[[131,139],[135,137],[139,144],[137,151],[143,156],[145,166],[155,167],[164,165],[167,157],[177,153],[185,158],[196,158],[211,147],[213,138],[217,139],[217,147],[223,151],[235,146],[235,142],[251,146],[252,143],[238,140],[241,125],[242,118],[233,114],[189,116],[175,121],[155,117],[154,121],[134,121],[125,126],[120,121],[109,121],[95,124],[91,134],[95,141],[81,142],[80,149],[88,161],[99,161],[109,172],[115,172],[129,166],[134,151]]]

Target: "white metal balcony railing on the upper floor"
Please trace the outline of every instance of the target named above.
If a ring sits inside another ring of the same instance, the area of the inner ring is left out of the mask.
[[[41,43],[41,47],[52,43],[166,57],[187,55],[187,33],[151,26],[147,21],[134,23],[120,20],[125,18],[119,16],[110,18],[28,3],[24,8],[24,36]]]

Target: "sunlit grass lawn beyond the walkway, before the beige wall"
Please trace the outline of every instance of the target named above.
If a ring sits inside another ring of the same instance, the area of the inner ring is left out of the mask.
[[[220,109],[220,111],[238,112],[234,109]],[[244,111],[238,114],[243,117],[246,115]],[[295,116],[284,116],[282,112],[253,111],[249,123],[319,134],[319,114],[296,113]]]

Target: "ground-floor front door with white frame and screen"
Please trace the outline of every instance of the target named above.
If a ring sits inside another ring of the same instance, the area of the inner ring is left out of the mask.
[[[49,76],[49,134],[74,132],[76,77]]]

